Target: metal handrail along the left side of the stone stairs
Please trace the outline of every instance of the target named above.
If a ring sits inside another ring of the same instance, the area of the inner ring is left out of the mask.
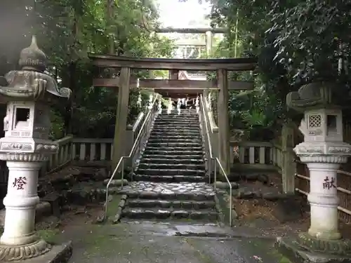
[[[134,141],[134,144],[133,144],[133,147],[129,153],[128,156],[121,156],[121,158],[119,159],[118,163],[117,163],[117,166],[116,168],[114,168],[114,171],[110,177],[110,180],[109,182],[107,182],[107,185],[106,185],[106,200],[105,200],[105,215],[104,215],[104,220],[106,219],[107,217],[107,203],[108,203],[108,196],[109,196],[109,187],[110,187],[110,184],[112,182],[112,180],[114,179],[114,176],[116,175],[117,173],[117,170],[119,170],[119,166],[121,165],[121,188],[123,188],[123,180],[124,180],[124,159],[129,159],[131,158],[132,154],[133,154],[133,151],[135,150],[137,144],[139,143],[138,141],[140,140],[140,136],[141,134],[143,133],[143,128],[145,127],[147,121],[149,120],[151,114],[152,114],[152,110],[154,109],[154,106],[155,106],[155,103],[157,102],[159,98],[159,95],[156,95],[154,101],[152,102],[152,104],[148,107],[150,107],[149,109],[149,112],[147,112],[147,115],[145,116],[145,119],[143,121],[143,125],[140,127],[139,129],[139,133],[138,133],[138,136],[135,138],[135,141]],[[132,173],[133,173],[133,168],[132,168]]]

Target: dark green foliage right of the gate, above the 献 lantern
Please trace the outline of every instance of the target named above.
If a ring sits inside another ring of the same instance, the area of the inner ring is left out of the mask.
[[[245,96],[234,95],[230,107],[238,121],[279,127],[291,116],[285,107],[290,91],[321,80],[350,86],[351,39],[345,31],[351,22],[346,15],[350,1],[208,1],[213,4],[212,25],[228,27],[216,57],[232,57],[237,49],[238,56],[258,58],[254,74],[261,94],[251,97],[251,114],[233,107],[247,103]]]

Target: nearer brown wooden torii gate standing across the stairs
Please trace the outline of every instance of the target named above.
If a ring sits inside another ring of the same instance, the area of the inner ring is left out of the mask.
[[[204,90],[219,90],[218,93],[218,158],[225,173],[230,171],[230,128],[228,116],[229,90],[247,90],[253,88],[251,81],[228,81],[228,71],[251,71],[256,67],[256,58],[234,59],[169,59],[169,58],[128,58],[116,55],[90,54],[93,65],[105,68],[118,68],[120,76],[112,79],[94,79],[95,87],[118,88],[116,128],[114,133],[114,152],[112,166],[115,168],[121,156],[125,154],[126,125],[128,115],[128,99],[130,88],[154,88],[157,93],[168,97],[179,96],[180,93],[197,95]],[[131,70],[180,70],[216,71],[217,79],[213,81],[180,80],[180,79],[133,79]]]

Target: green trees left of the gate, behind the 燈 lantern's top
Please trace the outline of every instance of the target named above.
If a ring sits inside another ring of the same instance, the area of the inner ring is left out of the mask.
[[[111,7],[111,8],[110,8]],[[50,60],[48,72],[60,86],[72,89],[72,103],[53,107],[52,135],[111,137],[117,93],[93,88],[88,53],[113,52],[138,57],[168,57],[172,42],[154,34],[158,13],[150,0],[33,0],[1,1],[0,74],[17,66],[20,50],[32,34]],[[133,72],[145,76],[148,72]],[[144,93],[143,93],[144,94]],[[143,95],[147,100],[148,95]],[[139,109],[138,90],[131,91],[128,121]]]

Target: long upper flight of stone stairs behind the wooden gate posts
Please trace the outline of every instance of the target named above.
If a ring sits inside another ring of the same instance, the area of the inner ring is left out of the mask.
[[[204,149],[199,116],[194,110],[180,115],[160,114],[147,142],[136,181],[204,182]]]

